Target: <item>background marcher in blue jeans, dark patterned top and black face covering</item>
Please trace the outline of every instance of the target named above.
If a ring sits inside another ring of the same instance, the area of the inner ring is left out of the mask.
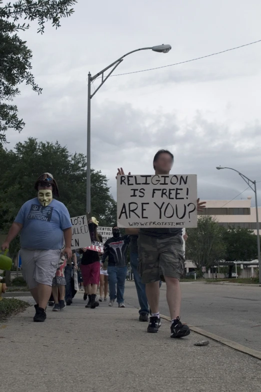
[[[118,307],[124,305],[124,288],[127,274],[126,253],[129,244],[129,235],[120,236],[117,226],[112,227],[113,237],[104,244],[104,253],[101,263],[103,264],[108,256],[108,285],[109,285],[109,306],[113,306],[117,298]],[[116,287],[117,286],[117,287]]]

